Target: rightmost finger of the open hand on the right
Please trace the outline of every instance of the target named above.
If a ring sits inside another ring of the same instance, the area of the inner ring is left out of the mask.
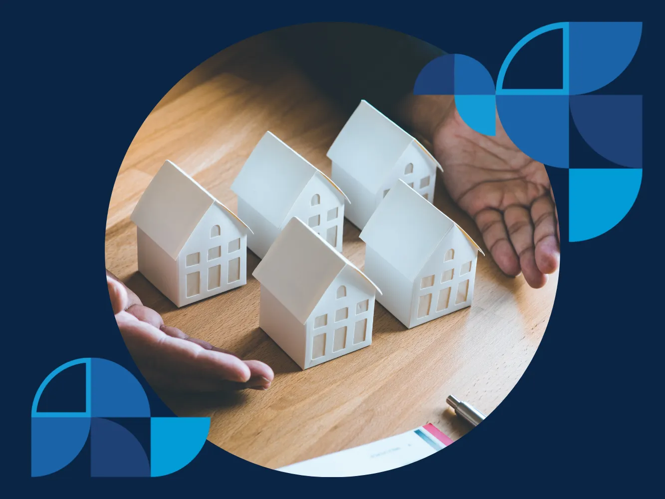
[[[560,253],[555,206],[549,196],[533,202],[531,218],[536,264],[541,272],[552,273],[559,268]]]

